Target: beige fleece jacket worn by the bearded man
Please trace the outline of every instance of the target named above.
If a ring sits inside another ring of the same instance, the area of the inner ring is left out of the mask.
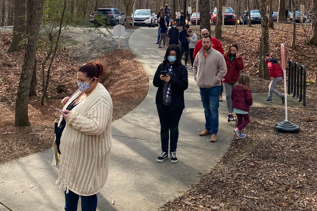
[[[204,48],[202,48],[195,58],[193,73],[197,86],[200,88],[220,86],[221,80],[227,74],[226,61],[223,55],[213,48],[210,48],[205,59]]]

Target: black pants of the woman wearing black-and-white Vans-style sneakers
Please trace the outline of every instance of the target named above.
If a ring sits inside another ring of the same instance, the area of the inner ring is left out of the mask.
[[[168,141],[170,141],[170,151],[174,152],[177,148],[178,141],[178,123],[183,110],[170,111],[170,105],[156,106],[159,113],[159,122],[161,124],[161,144],[162,151],[168,151]],[[170,136],[169,136],[170,132]]]

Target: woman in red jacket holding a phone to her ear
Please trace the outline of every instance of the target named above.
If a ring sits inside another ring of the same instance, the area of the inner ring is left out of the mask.
[[[235,118],[232,115],[233,107],[231,100],[231,92],[233,86],[237,83],[240,77],[240,71],[243,69],[242,56],[238,54],[238,45],[232,43],[226,54],[223,54],[224,60],[227,64],[227,74],[224,76],[222,82],[224,86],[224,91],[226,92],[226,102],[228,108],[228,122],[234,121]]]

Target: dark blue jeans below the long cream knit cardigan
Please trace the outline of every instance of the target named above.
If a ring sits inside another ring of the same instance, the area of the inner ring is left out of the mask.
[[[82,211],[96,211],[97,209],[97,194],[81,197],[81,210]],[[66,194],[65,191],[65,210],[76,211],[78,207],[79,195],[70,191]]]

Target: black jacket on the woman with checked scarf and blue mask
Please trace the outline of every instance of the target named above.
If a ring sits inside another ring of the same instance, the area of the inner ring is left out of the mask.
[[[153,85],[159,87],[156,92],[155,103],[161,106],[163,102],[163,81],[160,79],[161,71],[166,70],[168,61],[163,61],[155,72]],[[171,111],[183,110],[185,108],[184,103],[184,90],[188,87],[188,73],[186,67],[181,64],[173,64],[173,75],[171,76]]]

